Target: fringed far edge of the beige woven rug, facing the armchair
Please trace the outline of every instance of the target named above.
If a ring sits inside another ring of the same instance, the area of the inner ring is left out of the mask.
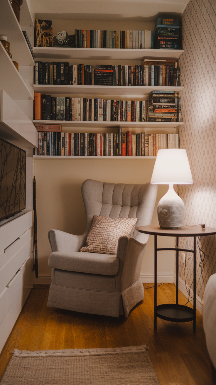
[[[100,356],[119,353],[147,352],[146,345],[126,346],[121,348],[95,348],[95,349],[63,349],[63,350],[37,350],[30,352],[28,350],[13,351],[16,357],[72,357],[72,356]]]

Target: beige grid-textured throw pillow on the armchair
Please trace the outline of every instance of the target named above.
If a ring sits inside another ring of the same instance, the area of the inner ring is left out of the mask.
[[[118,240],[129,235],[137,218],[109,218],[94,215],[92,227],[87,236],[86,246],[80,251],[89,253],[117,254]]]

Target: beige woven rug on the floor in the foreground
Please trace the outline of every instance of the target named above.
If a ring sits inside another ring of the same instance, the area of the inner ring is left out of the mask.
[[[147,346],[15,350],[1,385],[159,385]]]

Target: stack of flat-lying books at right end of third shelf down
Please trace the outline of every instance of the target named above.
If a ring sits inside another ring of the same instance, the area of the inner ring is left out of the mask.
[[[177,92],[152,91],[149,96],[149,122],[175,122],[177,105]]]

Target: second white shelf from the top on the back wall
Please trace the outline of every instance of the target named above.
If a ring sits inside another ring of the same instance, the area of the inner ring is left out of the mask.
[[[184,87],[160,87],[160,86],[125,86],[125,85],[47,85],[34,84],[35,92],[41,94],[56,94],[56,95],[122,95],[126,97],[149,97],[152,91],[181,91]]]

